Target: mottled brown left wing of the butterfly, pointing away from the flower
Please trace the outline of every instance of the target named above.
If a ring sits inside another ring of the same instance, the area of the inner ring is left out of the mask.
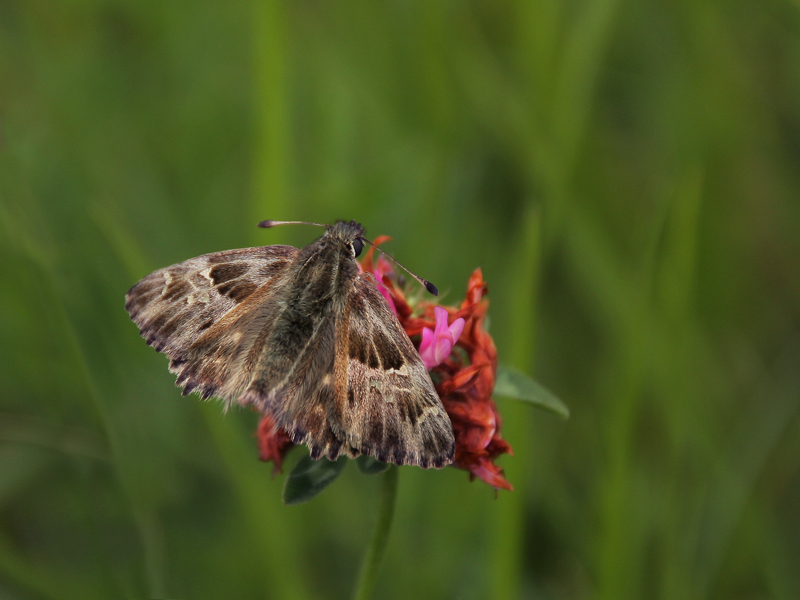
[[[170,357],[184,394],[236,399],[248,353],[269,325],[268,314],[252,309],[279,289],[296,253],[276,245],[206,254],[130,289],[125,308],[147,343]]]

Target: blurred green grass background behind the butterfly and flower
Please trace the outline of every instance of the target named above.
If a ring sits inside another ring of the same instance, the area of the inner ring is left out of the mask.
[[[482,267],[572,410],[402,469],[379,598],[800,598],[799,198],[797,0],[0,2],[0,598],[349,596],[378,480],[282,506],[123,309],[267,218]]]

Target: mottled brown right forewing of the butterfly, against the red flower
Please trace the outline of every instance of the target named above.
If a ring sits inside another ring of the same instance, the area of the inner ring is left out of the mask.
[[[334,431],[347,446],[383,462],[450,464],[455,448],[450,418],[386,300],[362,275],[347,307],[349,318],[336,340],[346,348],[337,353],[336,377],[343,381],[346,370],[347,391],[332,405]]]

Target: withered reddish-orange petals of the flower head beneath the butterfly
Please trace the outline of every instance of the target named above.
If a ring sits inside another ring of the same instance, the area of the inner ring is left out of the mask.
[[[374,244],[388,240],[378,237]],[[372,273],[387,302],[394,309],[409,337],[419,338],[424,328],[435,329],[435,309],[440,306],[428,300],[419,300],[412,307],[405,294],[395,285],[393,273],[387,264],[373,262],[374,248],[370,247],[361,261],[361,269]],[[384,261],[385,262],[385,261]],[[453,346],[450,356],[430,370],[436,392],[444,404],[456,440],[453,466],[469,471],[495,489],[511,490],[503,469],[494,464],[502,454],[513,454],[511,446],[500,437],[500,414],[492,400],[497,375],[497,350],[489,333],[483,328],[489,302],[484,298],[488,286],[480,269],[469,279],[467,295],[459,307],[442,306],[448,321],[464,319],[464,329]],[[416,342],[419,347],[419,341]],[[272,460],[280,470],[283,457],[292,442],[282,430],[276,430],[270,417],[264,417],[258,428],[261,459]]]

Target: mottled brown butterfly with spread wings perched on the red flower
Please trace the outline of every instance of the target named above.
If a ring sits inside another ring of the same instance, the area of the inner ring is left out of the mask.
[[[425,365],[372,275],[359,273],[363,228],[322,227],[302,249],[228,250],[155,271],[125,308],[169,356],[184,395],[254,406],[313,458],[450,464],[453,428]]]

